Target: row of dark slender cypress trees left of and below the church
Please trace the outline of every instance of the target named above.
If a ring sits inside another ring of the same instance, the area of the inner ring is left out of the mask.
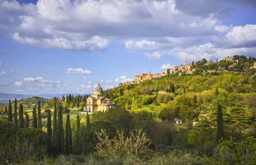
[[[19,108],[19,117],[17,118],[17,99],[15,98],[15,108],[14,108],[14,115],[12,118],[12,104],[11,100],[9,100],[9,110],[8,110],[8,121],[14,122],[18,128],[29,128],[29,115],[28,113],[25,114],[25,120],[23,117],[23,105],[20,104]],[[36,112],[36,107],[34,107],[32,112],[32,127],[42,129],[42,117],[41,117],[41,105],[40,100],[38,100],[38,112]],[[13,119],[13,121],[12,121]],[[90,117],[87,113],[87,129],[90,129]],[[80,118],[79,114],[77,115],[77,131],[80,127]],[[54,112],[53,112],[53,127],[52,127],[52,120],[51,120],[51,113],[48,111],[47,116],[47,135],[52,139],[52,153],[59,154],[59,153],[72,153],[72,130],[70,126],[70,114],[67,114],[67,122],[66,122],[66,133],[64,139],[64,128],[63,128],[63,109],[60,106],[58,111],[58,118],[57,118],[57,107],[56,102],[54,105]],[[79,145],[79,137],[76,136],[76,145]],[[78,146],[76,146],[78,147]]]

